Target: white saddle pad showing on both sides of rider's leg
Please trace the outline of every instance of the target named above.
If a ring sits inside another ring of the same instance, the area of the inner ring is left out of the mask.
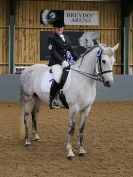
[[[67,80],[63,86],[63,91],[67,90],[70,86],[70,78],[71,78],[71,70],[69,71]],[[52,84],[53,80],[53,74],[48,71],[43,75],[43,79],[41,82],[41,90],[42,92],[49,93],[50,92],[50,87]]]

